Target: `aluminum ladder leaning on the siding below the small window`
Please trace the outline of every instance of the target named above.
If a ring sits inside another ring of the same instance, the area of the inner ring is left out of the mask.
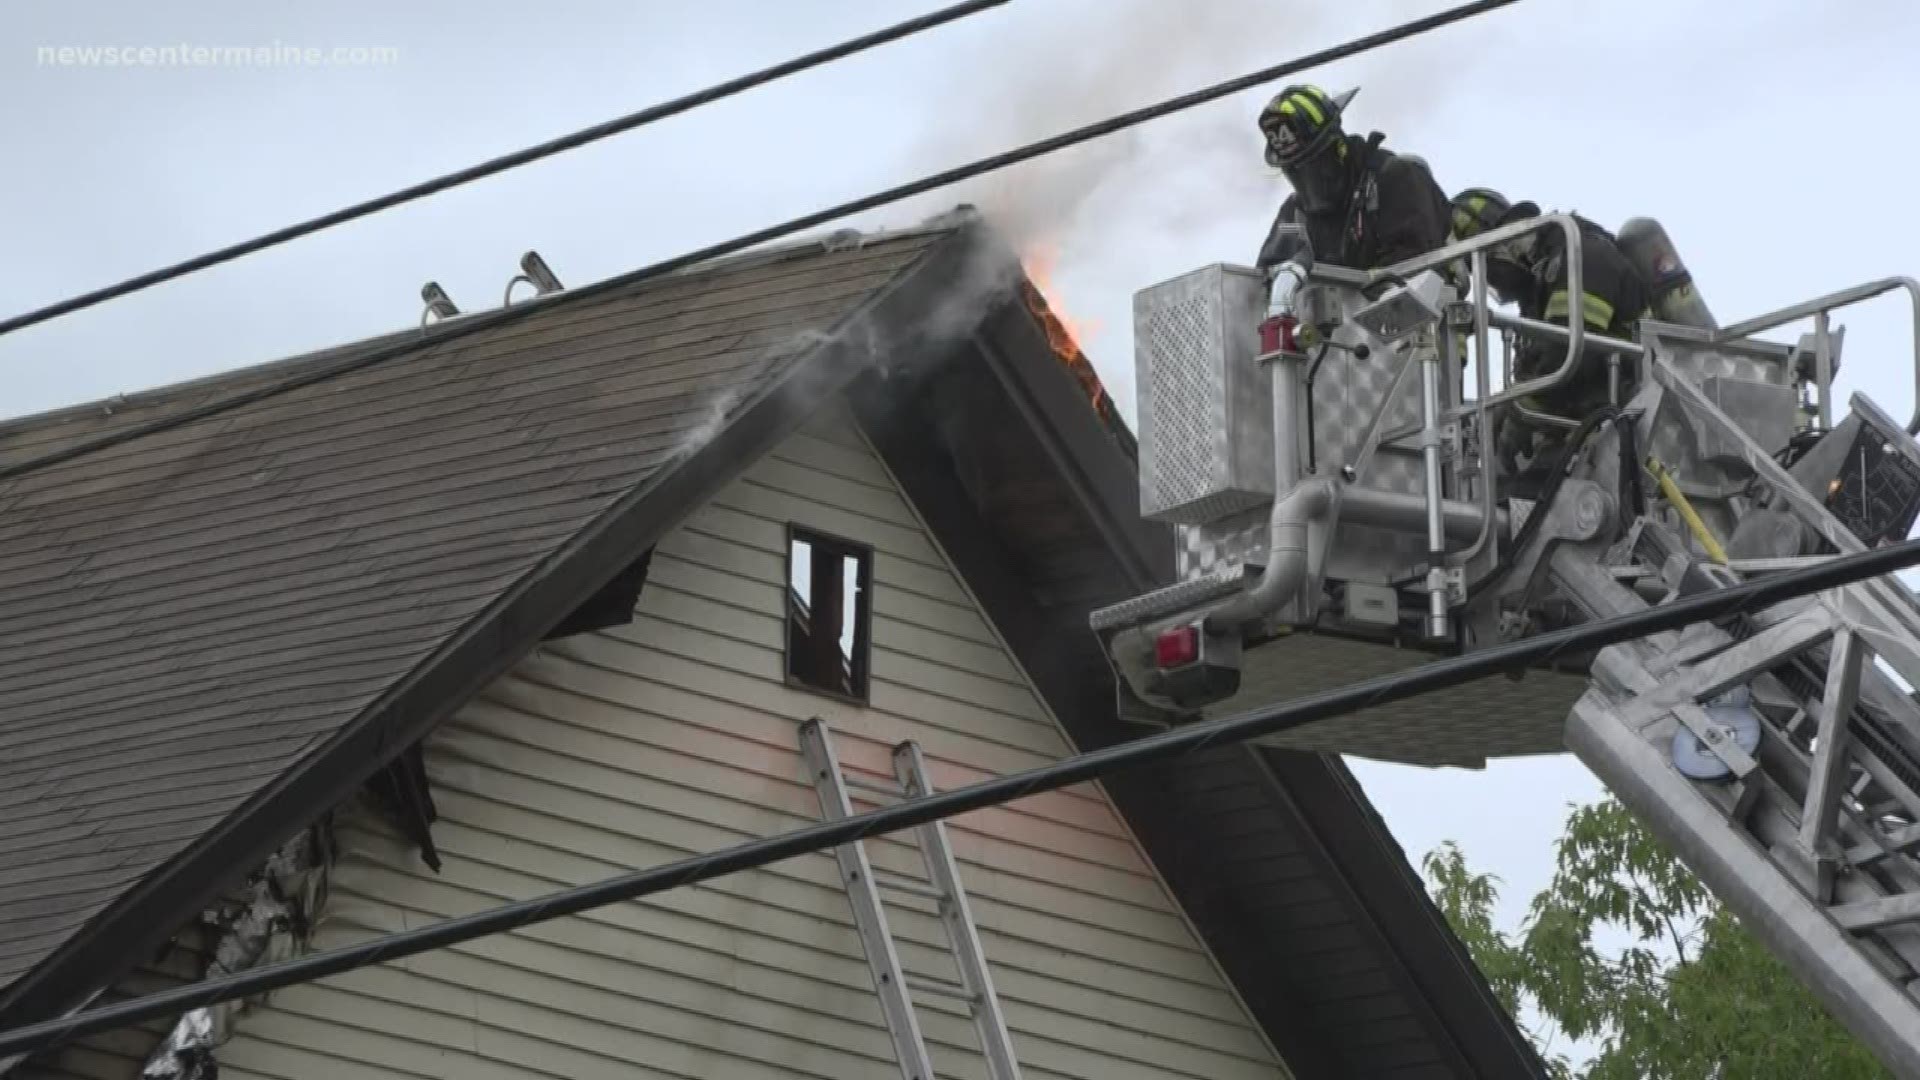
[[[801,753],[806,759],[814,792],[820,796],[820,809],[829,821],[852,815],[849,788],[895,799],[933,794],[925,757],[920,744],[912,740],[893,748],[895,784],[847,776],[833,753],[828,726],[818,717],[801,724]],[[962,1001],[973,1017],[979,1049],[987,1059],[987,1076],[991,1080],[1020,1080],[1014,1040],[1000,1015],[1000,997],[993,990],[987,953],[960,884],[960,865],[947,842],[947,824],[941,821],[922,824],[914,830],[914,840],[927,867],[927,882],[876,874],[866,847],[858,840],[833,849],[841,884],[847,888],[847,901],[852,905],[854,926],[860,932],[860,947],[866,951],[866,967],[874,976],[874,992],[879,994],[879,1011],[887,1020],[887,1034],[893,1038],[895,1057],[900,1063],[900,1076],[902,1080],[935,1080],[937,1076],[933,1061],[927,1057],[925,1038],[920,1034],[920,1017],[914,1013],[912,992],[922,992]],[[900,953],[893,945],[879,890],[931,899],[939,905],[941,926],[947,930],[960,982],[914,976],[904,970]]]

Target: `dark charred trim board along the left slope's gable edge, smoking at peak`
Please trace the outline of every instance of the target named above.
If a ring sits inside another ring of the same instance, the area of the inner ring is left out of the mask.
[[[205,903],[240,880],[292,830],[349,798],[380,767],[505,675],[611,577],[676,528],[739,471],[797,430],[822,402],[868,371],[881,352],[927,344],[924,313],[993,252],[973,227],[920,252],[843,317],[826,340],[741,404],[699,450],[662,465],[459,634],[269,788],[236,807],[177,859],[148,874],[67,942],[0,992],[0,1022],[44,1020],[121,978]],[[962,334],[964,338],[964,334]],[[912,352],[912,350],[902,350]],[[927,350],[920,350],[925,354]]]

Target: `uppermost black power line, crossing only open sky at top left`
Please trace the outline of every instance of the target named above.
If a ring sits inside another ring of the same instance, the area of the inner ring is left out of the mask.
[[[572,135],[563,135],[563,136],[553,138],[549,142],[541,142],[538,146],[528,146],[526,150],[516,150],[513,154],[505,154],[501,158],[493,158],[492,161],[482,161],[478,165],[470,165],[470,167],[461,169],[457,173],[447,173],[444,177],[434,177],[432,181],[424,181],[424,183],[413,184],[411,188],[401,188],[401,190],[397,190],[394,194],[384,194],[380,198],[372,198],[372,200],[349,206],[346,209],[336,209],[332,213],[324,213],[324,215],[315,217],[311,221],[301,221],[300,225],[288,225],[286,229],[278,229],[275,233],[267,233],[265,236],[255,236],[252,240],[244,240],[240,244],[232,244],[228,248],[221,248],[217,252],[207,252],[205,256],[198,256],[198,258],[186,259],[184,263],[175,263],[171,267],[161,267],[157,271],[150,271],[150,273],[144,273],[140,277],[131,277],[131,279],[127,279],[127,281],[123,281],[119,284],[109,284],[106,288],[96,288],[94,292],[86,292],[83,296],[75,296],[71,300],[61,300],[60,304],[50,304],[46,307],[40,307],[38,311],[27,311],[25,315],[13,315],[12,319],[0,323],[0,334],[10,334],[13,331],[19,331],[19,329],[25,329],[25,327],[33,327],[35,323],[44,323],[48,319],[58,319],[60,315],[69,315],[69,313],[79,311],[83,307],[92,307],[96,304],[104,304],[108,300],[113,300],[113,298],[119,298],[119,296],[127,296],[129,292],[138,292],[142,288],[150,288],[154,284],[161,284],[165,281],[173,281],[177,277],[186,277],[186,275],[190,275],[194,271],[204,271],[207,267],[213,267],[213,265],[219,265],[219,263],[225,263],[225,261],[230,261],[230,259],[238,259],[240,256],[252,256],[253,252],[259,252],[259,250],[265,250],[265,248],[273,248],[273,246],[284,244],[288,240],[298,240],[298,238],[307,236],[311,233],[319,233],[321,229],[332,229],[334,225],[344,225],[348,221],[353,221],[355,217],[367,217],[369,213],[378,213],[382,209],[392,209],[396,206],[413,202],[417,198],[426,198],[430,194],[438,194],[438,192],[444,192],[447,188],[455,188],[455,186],[478,181],[482,177],[492,177],[493,173],[505,173],[507,169],[515,169],[518,165],[526,165],[528,161],[538,161],[541,158],[551,158],[553,154],[559,154],[563,150],[574,150],[578,146],[586,146],[588,142],[597,142],[601,138],[607,138],[607,136],[612,136],[612,135],[620,135],[620,133],[632,131],[636,127],[649,125],[649,123],[653,123],[657,119],[666,119],[670,115],[684,113],[687,110],[718,102],[720,98],[728,98],[728,96],[739,94],[741,90],[751,90],[751,88],[760,86],[764,83],[772,83],[776,79],[783,79],[787,75],[795,75],[799,71],[806,71],[808,67],[818,67],[822,63],[828,63],[828,61],[833,61],[833,60],[841,60],[845,56],[852,56],[854,52],[864,52],[864,50],[879,46],[879,44],[887,44],[887,42],[893,42],[893,40],[899,40],[899,38],[904,38],[904,37],[912,37],[912,35],[918,35],[920,31],[927,31],[927,29],[939,27],[943,23],[950,23],[954,19],[964,19],[968,15],[985,12],[987,8],[998,8],[1000,4],[1006,4],[1006,2],[1008,0],[968,0],[966,4],[954,4],[952,8],[943,8],[939,12],[933,12],[933,13],[927,13],[927,15],[920,15],[918,19],[908,19],[904,23],[897,23],[897,25],[887,27],[883,31],[874,31],[870,35],[862,35],[862,37],[856,37],[856,38],[851,38],[851,40],[843,40],[841,44],[835,44],[835,46],[829,46],[829,48],[822,48],[818,52],[808,52],[804,56],[797,56],[793,60],[787,60],[783,63],[776,63],[772,67],[764,67],[764,69],[755,71],[751,75],[741,75],[737,79],[730,79],[730,81],[720,83],[716,86],[708,86],[705,90],[695,90],[691,94],[685,94],[682,98],[674,98],[670,102],[660,102],[657,106],[649,106],[645,110],[639,110],[637,113],[628,113],[624,117],[616,117],[616,119],[611,119],[611,121],[605,121],[605,123],[597,123],[593,127],[576,131]]]

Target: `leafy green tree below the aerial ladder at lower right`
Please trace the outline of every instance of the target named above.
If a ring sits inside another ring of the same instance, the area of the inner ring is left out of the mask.
[[[1542,1017],[1557,1080],[1891,1076],[1617,799],[1576,807],[1555,861],[1517,932],[1494,924],[1498,878],[1457,846],[1425,869],[1507,1011]],[[1561,1040],[1592,1059],[1572,1065]]]

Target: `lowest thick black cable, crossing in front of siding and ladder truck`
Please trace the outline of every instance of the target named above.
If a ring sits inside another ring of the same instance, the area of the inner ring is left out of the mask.
[[[397,961],[428,949],[457,945],[488,934],[501,934],[518,926],[578,915],[609,903],[655,896],[737,871],[751,871],[768,863],[791,859],[795,855],[826,851],[841,844],[852,844],[856,840],[914,828],[960,813],[1023,799],[1041,792],[1071,788],[1073,784],[1098,780],[1117,769],[1133,769],[1187,753],[1200,753],[1215,746],[1269,736],[1313,721],[1325,721],[1384,705],[1388,701],[1400,701],[1419,694],[1461,686],[1490,675],[1551,663],[1563,655],[1584,655],[1594,650],[1645,638],[1649,634],[1678,630],[1692,623],[1715,621],[1761,609],[1797,596],[1837,588],[1870,577],[1891,575],[1916,563],[1920,563],[1920,540],[1907,540],[1903,544],[1839,555],[1811,567],[1761,577],[1728,588],[1711,588],[1668,603],[1645,607],[1642,611],[1588,623],[1584,626],[1571,626],[1565,630],[1523,638],[1519,642],[1490,646],[1478,653],[1438,659],[1411,671],[1382,675],[1352,686],[1342,686],[1338,690],[1298,698],[1281,705],[1250,709],[1235,717],[1177,726],[1162,734],[1094,749],[1091,753],[1041,765],[1025,773],[1014,773],[1010,776],[981,780],[966,788],[952,788],[906,799],[868,813],[810,824],[806,828],[797,828],[764,840],[749,840],[747,844],[739,844],[735,847],[680,859],[678,863],[668,863],[664,867],[634,871],[549,896],[507,903],[492,911],[445,919],[417,930],[401,930],[372,942],[344,945],[240,974],[163,990],[131,1001],[117,1001],[86,1013],[75,1013],[65,1019],[19,1026],[10,1032],[0,1032],[0,1055],[31,1053],[71,1038],[136,1024],[156,1017],[173,1017],[190,1009],[215,1005],[219,1001],[232,1001],[236,997],[278,990],[296,982],[326,978],[359,967]]]

